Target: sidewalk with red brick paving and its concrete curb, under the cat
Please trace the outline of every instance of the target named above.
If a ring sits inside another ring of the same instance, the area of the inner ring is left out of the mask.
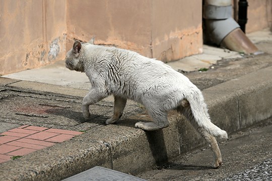
[[[169,63],[202,89],[213,122],[229,134],[272,114],[272,35],[249,37],[266,53],[243,56],[204,46],[201,55]],[[209,70],[194,71],[200,68]],[[81,101],[89,86],[84,73],[66,69],[63,61],[0,77],[1,180],[61,180],[97,165],[137,174],[206,144],[174,112],[163,130],[133,128],[149,117],[132,101],[117,124],[105,125],[112,98],[91,106],[86,121]]]

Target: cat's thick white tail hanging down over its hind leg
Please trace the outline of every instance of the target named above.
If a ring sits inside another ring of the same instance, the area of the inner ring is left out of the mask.
[[[183,105],[181,112],[197,130],[205,130],[219,139],[228,138],[226,131],[211,122],[207,105],[204,103],[204,98],[199,89],[193,90],[185,96],[185,99],[189,102],[189,106],[184,107]]]

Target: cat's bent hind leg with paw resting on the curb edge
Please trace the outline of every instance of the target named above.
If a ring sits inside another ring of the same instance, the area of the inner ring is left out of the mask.
[[[141,128],[145,131],[155,131],[169,126],[169,122],[167,120],[167,112],[149,111],[149,115],[152,117],[153,122],[137,122],[135,124],[135,128]]]

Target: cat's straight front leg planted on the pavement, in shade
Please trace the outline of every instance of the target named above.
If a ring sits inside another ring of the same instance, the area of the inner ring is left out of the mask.
[[[110,119],[107,119],[106,125],[115,123],[121,118],[125,108],[126,100],[127,99],[125,98],[114,96],[113,116]]]

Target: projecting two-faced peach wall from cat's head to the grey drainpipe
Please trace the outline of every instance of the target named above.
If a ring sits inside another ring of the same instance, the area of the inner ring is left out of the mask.
[[[96,0],[67,4],[67,47],[75,39],[137,51],[163,61],[202,51],[201,1]]]

